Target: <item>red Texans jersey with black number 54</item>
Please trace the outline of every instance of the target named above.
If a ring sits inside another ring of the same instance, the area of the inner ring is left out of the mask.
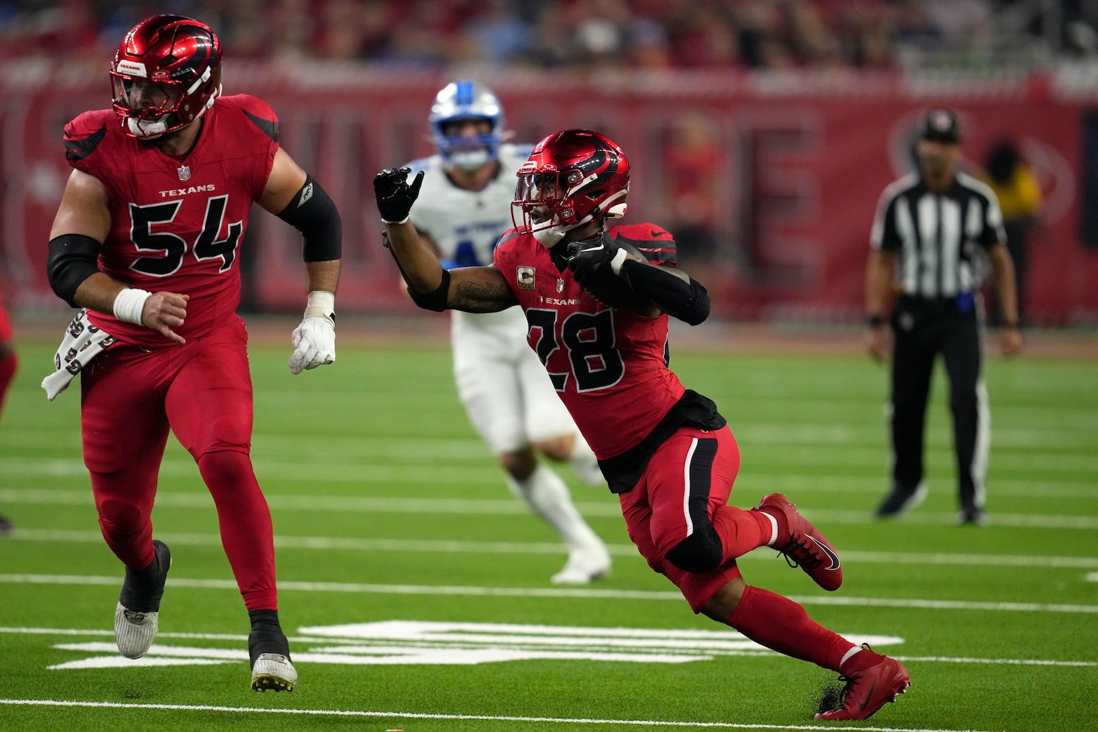
[[[255,97],[219,97],[202,120],[194,147],[180,157],[124,134],[112,110],[65,125],[69,165],[98,178],[111,199],[99,269],[133,288],[190,295],[186,322],[173,328],[187,339],[236,313],[238,247],[279,147],[278,117]],[[171,342],[112,314],[89,312],[89,319],[123,342]]]

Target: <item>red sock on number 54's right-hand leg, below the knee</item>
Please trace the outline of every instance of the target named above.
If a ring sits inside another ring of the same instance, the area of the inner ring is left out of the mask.
[[[267,507],[246,453],[208,452],[199,471],[217,507],[221,543],[249,610],[277,610],[274,537]]]

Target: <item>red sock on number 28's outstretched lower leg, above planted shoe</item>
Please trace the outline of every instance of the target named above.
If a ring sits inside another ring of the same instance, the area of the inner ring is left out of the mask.
[[[760,645],[834,672],[858,647],[809,618],[789,598],[751,585],[726,622]]]

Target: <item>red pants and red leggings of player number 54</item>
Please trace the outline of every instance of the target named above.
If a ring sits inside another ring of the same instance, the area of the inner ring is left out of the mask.
[[[249,610],[277,609],[270,510],[251,469],[247,330],[233,319],[183,346],[119,345],[80,375],[83,461],[108,545],[133,570],[153,561],[150,515],[168,430],[213,496],[222,545]]]

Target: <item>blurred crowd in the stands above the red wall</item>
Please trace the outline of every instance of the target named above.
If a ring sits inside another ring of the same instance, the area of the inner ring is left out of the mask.
[[[0,59],[103,63],[136,21],[212,25],[228,58],[562,69],[895,68],[984,63],[1004,25],[1054,53],[1098,45],[1095,0],[0,0]],[[1052,12],[1054,11],[1054,12]],[[1051,33],[1049,24],[1057,27]],[[1018,44],[1011,44],[1018,47]],[[1021,44],[1026,45],[1026,44]],[[973,61],[973,59],[977,59]]]

